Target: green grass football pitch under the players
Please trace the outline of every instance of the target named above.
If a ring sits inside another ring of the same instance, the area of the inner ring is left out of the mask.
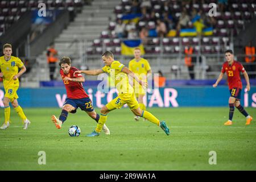
[[[256,170],[256,109],[246,110],[254,116],[249,126],[237,109],[233,125],[224,126],[228,107],[148,109],[167,122],[167,136],[123,108],[108,115],[111,135],[89,138],[96,122],[81,110],[57,130],[50,119],[60,109],[25,108],[31,125],[22,130],[11,109],[9,129],[0,130],[0,170]],[[1,109],[1,122],[3,116]],[[71,125],[80,126],[80,137],[69,137]],[[46,165],[38,164],[39,151],[46,152]],[[216,165],[209,164],[210,151],[216,151]]]

